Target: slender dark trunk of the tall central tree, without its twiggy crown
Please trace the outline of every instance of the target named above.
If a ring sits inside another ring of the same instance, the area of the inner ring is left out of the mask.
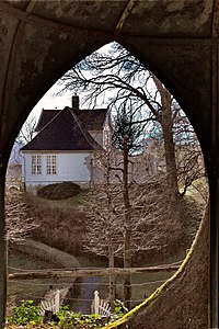
[[[124,136],[123,145],[123,198],[125,208],[125,230],[124,230],[124,268],[131,268],[131,256],[130,256],[130,202],[128,193],[128,149],[127,149],[127,136]],[[130,309],[131,287],[130,287],[130,274],[125,275],[124,279],[124,299],[125,305]]]

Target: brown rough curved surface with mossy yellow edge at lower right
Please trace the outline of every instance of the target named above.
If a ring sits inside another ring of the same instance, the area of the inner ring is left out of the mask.
[[[194,253],[186,268],[157,299],[129,321],[138,329],[208,328],[208,216],[204,218]],[[147,327],[146,327],[147,324]]]

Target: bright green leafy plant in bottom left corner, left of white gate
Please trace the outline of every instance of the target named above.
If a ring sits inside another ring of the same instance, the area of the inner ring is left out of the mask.
[[[41,325],[43,317],[39,314],[39,308],[34,305],[33,300],[21,300],[21,305],[13,308],[13,316],[7,321],[14,325]]]

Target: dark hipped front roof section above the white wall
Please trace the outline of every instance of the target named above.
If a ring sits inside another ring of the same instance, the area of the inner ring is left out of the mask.
[[[100,148],[70,107],[51,112],[58,113],[21,150],[93,150]]]

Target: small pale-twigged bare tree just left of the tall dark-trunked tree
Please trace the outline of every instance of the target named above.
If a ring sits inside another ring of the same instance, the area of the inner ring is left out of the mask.
[[[112,184],[112,166],[116,152],[112,144],[105,141],[106,148],[96,151],[92,160],[93,186],[85,200],[87,235],[85,248],[108,259],[108,266],[114,268],[114,258],[123,248],[123,232],[117,229],[116,203],[119,193]],[[120,227],[120,226],[119,226]],[[110,275],[110,300],[114,308],[115,277]]]

